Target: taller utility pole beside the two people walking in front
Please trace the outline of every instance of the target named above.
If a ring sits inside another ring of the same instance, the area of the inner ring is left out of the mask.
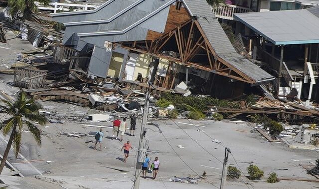
[[[149,87],[145,95],[145,103],[144,103],[144,109],[143,109],[143,118],[142,118],[142,125],[141,125],[141,131],[140,131],[140,140],[139,140],[139,151],[138,151],[138,158],[136,160],[136,167],[135,167],[135,176],[134,176],[134,189],[140,188],[140,173],[141,173],[141,167],[142,163],[144,162],[144,153],[146,152],[146,149],[143,149],[144,146],[144,136],[145,136],[145,126],[147,123],[148,118],[148,111],[149,111],[149,98],[150,98],[150,92],[151,92],[151,85],[154,81],[154,77],[159,65],[160,59],[155,59],[152,61],[152,68],[150,68],[151,74],[149,75]],[[150,66],[151,67],[151,66]]]

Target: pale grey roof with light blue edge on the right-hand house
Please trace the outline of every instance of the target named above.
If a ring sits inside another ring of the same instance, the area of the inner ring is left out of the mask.
[[[275,45],[310,44],[319,43],[317,9],[241,13],[234,17]]]

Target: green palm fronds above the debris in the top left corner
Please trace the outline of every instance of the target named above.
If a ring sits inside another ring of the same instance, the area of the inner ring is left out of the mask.
[[[31,18],[33,13],[38,12],[37,6],[34,2],[39,2],[44,6],[48,6],[51,2],[50,0],[9,0],[8,6],[10,7],[10,14],[15,17],[19,13],[23,13],[22,19]]]

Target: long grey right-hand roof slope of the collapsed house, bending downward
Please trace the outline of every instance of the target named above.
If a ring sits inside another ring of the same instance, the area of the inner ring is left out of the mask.
[[[257,65],[236,52],[224,30],[212,13],[206,0],[184,0],[194,16],[197,17],[206,37],[216,54],[227,63],[237,68],[256,83],[274,78]]]

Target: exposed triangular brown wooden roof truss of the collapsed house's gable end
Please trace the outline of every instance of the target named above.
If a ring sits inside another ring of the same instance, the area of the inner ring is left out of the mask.
[[[197,20],[190,19],[156,40],[129,41],[120,44],[133,51],[151,54],[235,80],[255,82],[216,55]],[[166,51],[166,54],[163,54],[163,51]],[[178,54],[169,56],[167,51]]]

